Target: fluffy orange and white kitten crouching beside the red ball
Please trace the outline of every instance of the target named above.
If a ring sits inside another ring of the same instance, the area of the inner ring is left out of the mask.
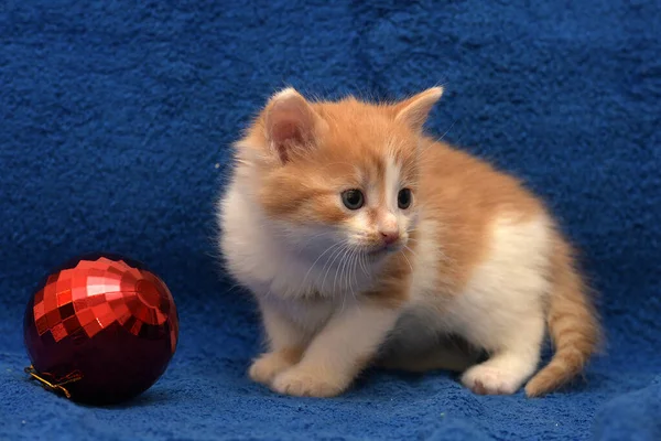
[[[442,93],[312,103],[288,88],[235,144],[219,245],[268,336],[254,381],[329,397],[376,364],[540,396],[594,353],[595,310],[543,203],[424,135]],[[555,355],[532,376],[546,330]]]

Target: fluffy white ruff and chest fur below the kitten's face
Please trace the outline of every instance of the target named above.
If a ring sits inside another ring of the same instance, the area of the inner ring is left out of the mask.
[[[336,260],[333,267],[322,259],[310,261],[288,248],[236,184],[220,201],[218,217],[226,269],[292,321],[303,327],[316,327],[334,309],[353,300],[355,288],[348,287],[347,278],[336,277],[337,266],[342,266],[337,255],[326,256]],[[305,300],[308,295],[313,298]]]

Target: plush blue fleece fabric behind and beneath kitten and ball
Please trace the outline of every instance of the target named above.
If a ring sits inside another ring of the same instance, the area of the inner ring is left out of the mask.
[[[2,1],[0,439],[660,440],[659,35],[659,1]],[[285,85],[436,84],[430,130],[525,180],[583,250],[604,355],[534,400],[444,373],[375,372],[335,399],[250,383],[258,318],[214,257],[228,144]],[[99,249],[154,269],[181,316],[165,375],[113,408],[22,372],[34,284]]]

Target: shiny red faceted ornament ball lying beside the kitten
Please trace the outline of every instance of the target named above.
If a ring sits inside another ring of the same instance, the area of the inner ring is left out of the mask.
[[[26,372],[74,401],[109,405],[149,389],[178,340],[165,283],[111,255],[73,259],[44,278],[25,310]]]

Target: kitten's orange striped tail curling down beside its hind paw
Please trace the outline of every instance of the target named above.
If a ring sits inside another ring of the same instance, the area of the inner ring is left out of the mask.
[[[574,267],[571,247],[560,236],[551,261],[552,291],[546,321],[555,354],[525,386],[525,395],[545,395],[578,375],[596,352],[600,329],[587,287]]]

